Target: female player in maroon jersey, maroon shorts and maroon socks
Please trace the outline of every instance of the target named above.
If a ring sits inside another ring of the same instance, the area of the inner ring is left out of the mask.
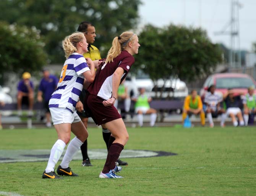
[[[138,53],[139,40],[133,32],[123,32],[112,42],[105,64],[98,69],[94,82],[88,87],[86,109],[91,111],[92,119],[97,125],[104,125],[110,132],[109,151],[100,178],[122,178],[115,174],[122,168],[117,161],[123,147],[128,141],[128,133],[122,117],[114,106],[120,83],[125,79],[133,55]]]

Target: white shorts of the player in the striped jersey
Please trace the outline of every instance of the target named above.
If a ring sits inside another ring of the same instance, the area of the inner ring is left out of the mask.
[[[66,108],[50,108],[53,125],[62,123],[74,123],[81,121],[76,112],[72,113]]]

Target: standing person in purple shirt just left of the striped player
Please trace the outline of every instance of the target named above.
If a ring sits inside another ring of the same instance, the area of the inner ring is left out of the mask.
[[[57,77],[50,74],[48,69],[43,70],[43,78],[41,79],[38,93],[37,93],[37,101],[44,103],[44,108],[46,110],[45,117],[46,117],[46,126],[51,127],[51,115],[49,110],[49,100],[52,96],[52,93],[56,90],[58,85]],[[44,99],[43,99],[44,97]],[[44,101],[43,101],[44,100]]]

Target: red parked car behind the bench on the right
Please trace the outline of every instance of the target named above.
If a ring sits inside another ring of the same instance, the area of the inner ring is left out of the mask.
[[[224,95],[227,93],[229,88],[234,89],[235,94],[243,94],[245,95],[248,92],[248,87],[256,86],[256,82],[247,74],[239,74],[239,73],[221,73],[221,74],[213,74],[209,76],[204,82],[203,88],[200,90],[200,96],[202,100],[204,100],[204,96],[208,88],[211,85],[216,86],[215,92]],[[255,91],[256,93],[256,91]]]

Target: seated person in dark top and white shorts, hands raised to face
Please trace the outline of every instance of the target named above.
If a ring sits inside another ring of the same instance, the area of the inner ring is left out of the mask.
[[[242,100],[241,96],[234,96],[234,90],[229,89],[228,92],[223,96],[224,103],[226,105],[226,115],[232,118],[233,125],[237,127],[238,122],[236,116],[238,117],[240,126],[245,125],[243,121],[242,111],[240,109]]]

